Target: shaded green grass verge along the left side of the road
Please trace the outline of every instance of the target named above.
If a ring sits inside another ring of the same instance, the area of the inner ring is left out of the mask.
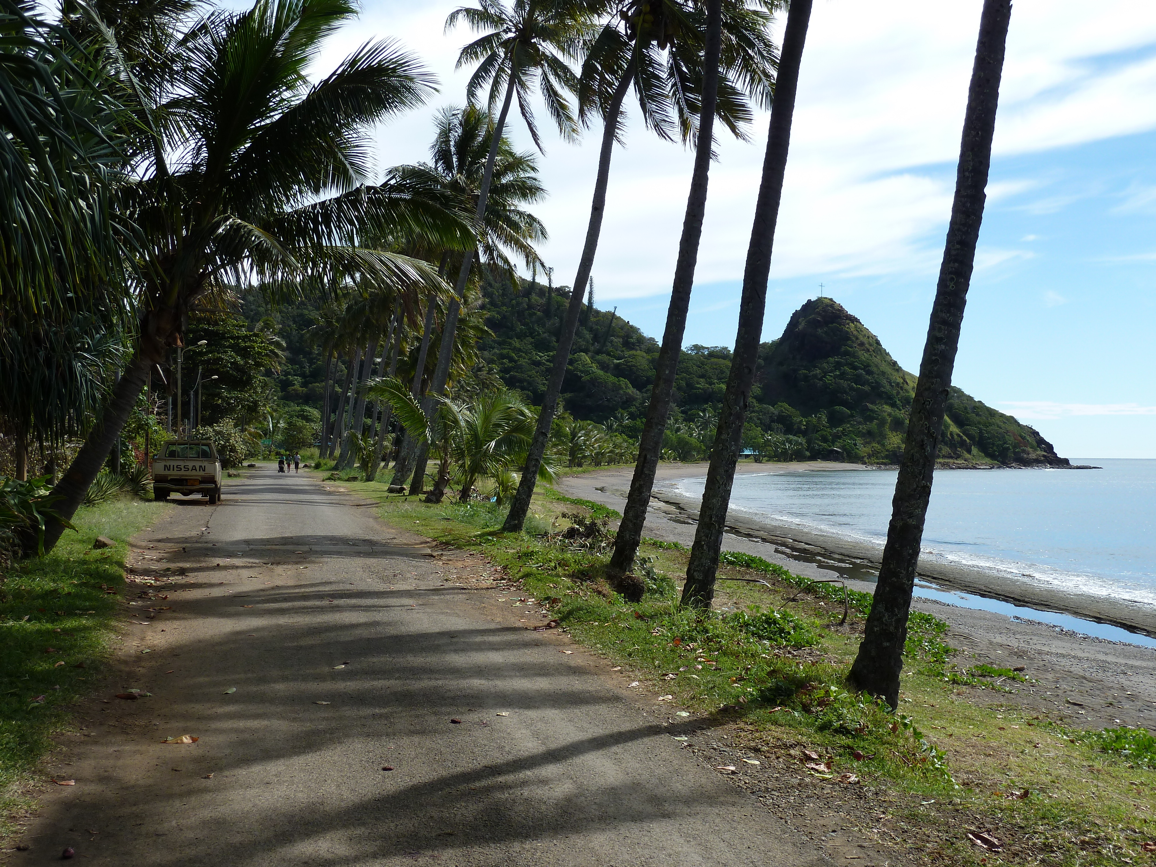
[[[124,588],[126,540],[169,509],[127,497],[81,507],[55,549],[0,580],[0,832],[71,705],[98,677]],[[108,536],[112,548],[94,550]],[[111,592],[110,592],[111,591]]]

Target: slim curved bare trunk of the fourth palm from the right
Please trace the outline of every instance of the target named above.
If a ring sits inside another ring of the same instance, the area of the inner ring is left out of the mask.
[[[570,290],[570,305],[566,307],[566,316],[563,320],[558,348],[554,353],[554,366],[550,369],[550,379],[546,386],[546,394],[542,397],[542,410],[538,415],[538,427],[534,429],[534,438],[526,455],[526,465],[523,467],[521,479],[518,481],[518,490],[510,504],[510,513],[506,514],[505,524],[502,526],[502,529],[507,533],[519,532],[526,523],[526,516],[529,513],[529,501],[534,496],[534,486],[538,482],[538,473],[546,458],[550,427],[554,424],[554,416],[558,408],[558,395],[562,393],[562,380],[565,379],[566,364],[570,363],[570,348],[573,346],[575,333],[578,331],[578,320],[581,316],[584,290],[586,283],[590,282],[590,272],[594,267],[594,254],[598,252],[598,239],[602,231],[602,215],[606,212],[606,187],[610,179],[610,158],[614,155],[614,135],[618,128],[622,101],[630,89],[633,71],[635,66],[631,61],[627,65],[622,80],[615,88],[610,104],[607,106],[606,126],[602,129],[602,149],[598,156],[598,177],[594,180],[594,197],[590,206],[590,222],[586,225],[586,243],[583,245],[581,258],[578,260],[578,274],[575,276],[573,288]],[[548,296],[548,301],[551,296]]]

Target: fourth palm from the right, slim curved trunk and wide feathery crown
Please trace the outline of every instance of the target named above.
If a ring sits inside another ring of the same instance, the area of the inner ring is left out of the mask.
[[[703,206],[706,194],[705,166],[709,165],[711,155],[711,125],[714,118],[718,117],[732,133],[741,138],[743,127],[750,120],[742,88],[757,94],[764,102],[769,94],[775,52],[765,32],[768,16],[748,9],[743,3],[724,3],[728,12],[727,28],[724,27],[718,2],[711,2],[714,14],[709,27],[707,18],[711,16],[690,2],[631,0],[602,27],[588,46],[583,62],[579,95],[584,120],[598,114],[602,117],[598,173],[586,239],[563,318],[550,378],[542,398],[526,472],[503,525],[509,532],[521,529],[526,520],[538,479],[536,465],[543,459],[549,444],[570,349],[583,310],[585,288],[591,279],[602,231],[610,158],[614,143],[622,135],[622,105],[627,94],[632,87],[649,128],[665,139],[679,136],[688,143],[701,138],[699,113],[705,98],[710,124],[705,132],[705,147],[699,144],[703,151],[699,162],[703,168],[702,171],[696,171],[696,177],[703,177],[698,178],[698,187],[694,188],[691,199],[691,203],[701,199]],[[711,28],[714,47],[711,49],[711,57],[706,58],[704,51]],[[699,232],[701,224],[699,216]],[[697,251],[697,234],[694,237]],[[687,246],[686,239],[683,245]],[[684,282],[689,283],[689,279]]]

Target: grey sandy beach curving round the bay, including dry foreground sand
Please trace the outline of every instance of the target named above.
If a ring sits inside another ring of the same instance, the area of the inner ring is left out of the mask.
[[[847,470],[845,464],[739,465],[743,474],[798,469]],[[622,511],[632,467],[612,467],[566,476],[558,489]],[[860,472],[874,472],[861,468]],[[647,536],[690,546],[695,538],[697,499],[676,490],[682,479],[702,477],[706,464],[662,464],[646,517]],[[836,536],[757,520],[749,514],[728,519],[724,549],[755,554],[812,578],[843,578],[847,586],[874,590],[879,550]],[[1141,606],[1087,594],[1065,594],[1050,587],[1018,583],[978,569],[920,563],[920,578],[939,587],[1000,599],[1044,612],[1116,624],[1156,635],[1156,614]],[[725,593],[725,581],[720,583]],[[1081,635],[1030,616],[917,599],[913,607],[948,621],[949,643],[980,661],[1023,665],[1035,684],[1003,696],[1007,704],[1028,705],[1080,728],[1135,725],[1156,729],[1156,650],[1127,642]],[[1013,661],[1015,660],[1015,661]],[[961,660],[964,661],[964,660]]]

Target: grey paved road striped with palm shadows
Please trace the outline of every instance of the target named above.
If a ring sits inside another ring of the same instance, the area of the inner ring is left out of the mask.
[[[53,765],[76,785],[50,786],[10,864],[832,864],[608,662],[446,583],[484,578],[480,558],[430,556],[304,475],[171,511],[134,569],[178,584],[128,609],[148,625],[123,632],[121,682]]]

